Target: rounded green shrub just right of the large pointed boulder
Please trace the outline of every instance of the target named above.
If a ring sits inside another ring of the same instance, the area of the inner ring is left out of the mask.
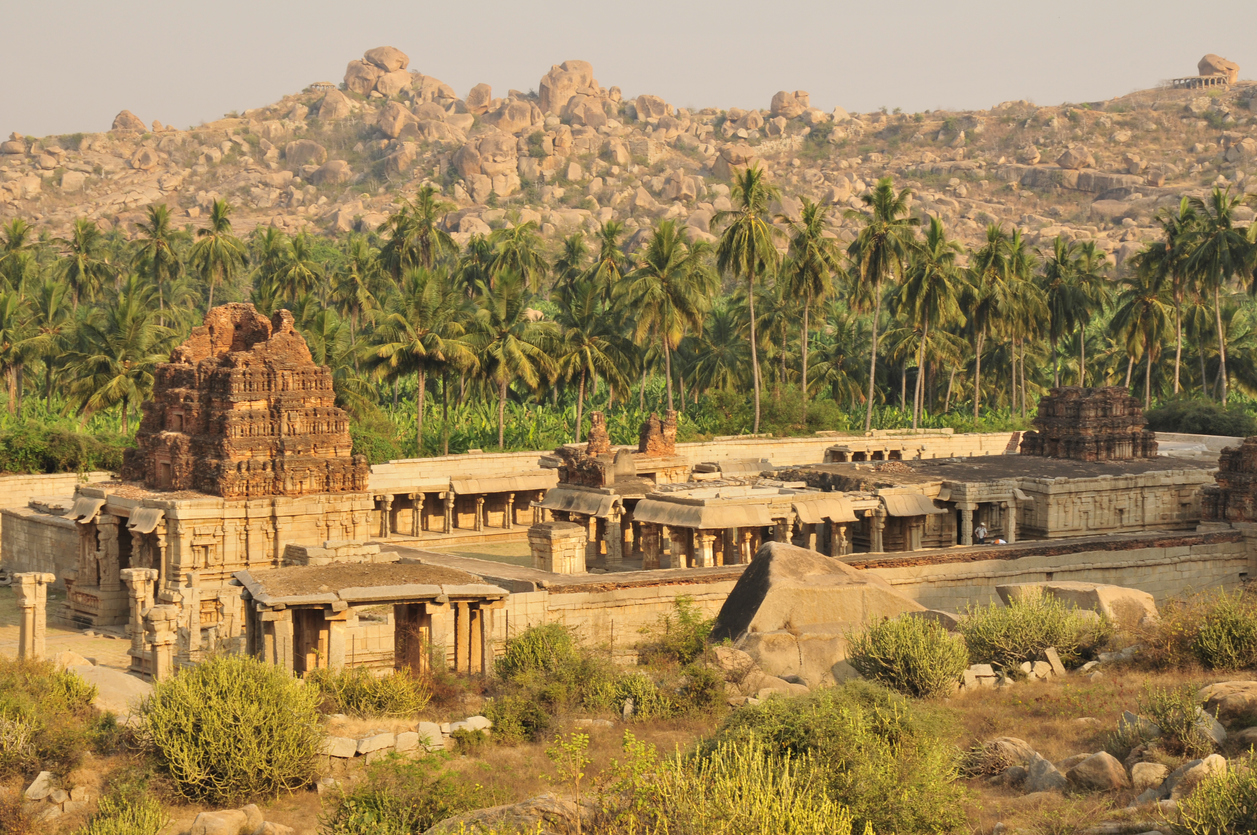
[[[940,624],[900,615],[850,639],[847,660],[866,679],[905,695],[943,695],[955,689],[969,665],[964,639]]]

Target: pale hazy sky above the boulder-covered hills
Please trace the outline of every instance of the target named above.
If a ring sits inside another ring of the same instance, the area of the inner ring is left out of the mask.
[[[567,58],[605,87],[680,107],[905,111],[1110,98],[1195,74],[1208,52],[1257,77],[1253,0],[40,0],[0,3],[0,135],[176,127],[339,83],[371,47],[459,93],[535,89]]]

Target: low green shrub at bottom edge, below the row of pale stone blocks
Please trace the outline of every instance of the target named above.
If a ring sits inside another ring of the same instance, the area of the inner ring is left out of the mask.
[[[481,734],[483,736],[483,734]],[[390,756],[334,801],[321,817],[326,835],[420,835],[436,822],[489,805],[480,787],[453,778],[441,758],[407,761]]]

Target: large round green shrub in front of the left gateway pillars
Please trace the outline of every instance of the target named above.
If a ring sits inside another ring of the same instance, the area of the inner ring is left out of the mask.
[[[189,800],[234,804],[314,777],[319,690],[244,655],[216,655],[153,687],[142,738]]]

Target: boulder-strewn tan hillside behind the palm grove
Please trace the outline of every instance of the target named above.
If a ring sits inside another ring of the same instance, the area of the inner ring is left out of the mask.
[[[347,231],[378,226],[430,181],[456,206],[446,225],[459,239],[515,218],[549,236],[669,218],[710,239],[730,177],[758,162],[786,213],[802,196],[859,206],[869,185],[894,176],[965,243],[1004,221],[1032,243],[1094,239],[1120,262],[1154,235],[1159,206],[1216,182],[1247,186],[1254,111],[1257,84],[1244,82],[977,112],[825,112],[802,91],[760,111],[690,111],[626,99],[583,60],[552,67],[535,93],[494,97],[476,84],[460,97],[381,47],[349,62],[339,86],[186,131],[123,111],[106,133],[14,135],[0,143],[0,220],[60,234],[87,216],[128,230],[166,202],[195,226],[225,197],[239,231]]]

